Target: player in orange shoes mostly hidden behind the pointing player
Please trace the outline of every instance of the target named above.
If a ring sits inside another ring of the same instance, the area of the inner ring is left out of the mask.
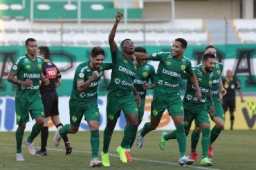
[[[147,54],[147,51],[144,47],[136,47],[135,52],[143,52]],[[143,120],[144,109],[145,109],[145,98],[148,89],[153,89],[155,85],[155,69],[153,65],[150,65],[148,62],[144,60],[137,59],[138,62],[138,69],[136,72],[135,80],[134,80],[134,87],[136,88],[138,94],[140,95],[140,107],[138,107],[138,126],[140,125],[141,121]],[[149,80],[151,81],[150,84]],[[131,162],[131,147],[134,145],[134,140],[136,135],[131,139],[131,143],[129,146],[125,148],[125,156],[128,162]]]

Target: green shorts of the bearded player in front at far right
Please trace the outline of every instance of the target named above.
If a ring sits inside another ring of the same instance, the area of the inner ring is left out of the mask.
[[[199,123],[210,124],[208,111],[206,111],[205,109],[201,109],[197,111],[190,111],[190,109],[184,109],[184,111],[185,111],[185,115],[184,115],[185,129],[190,129],[193,120],[196,125],[199,125]]]

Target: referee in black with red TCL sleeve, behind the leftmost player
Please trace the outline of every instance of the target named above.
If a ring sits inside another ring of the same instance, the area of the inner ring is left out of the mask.
[[[42,96],[42,101],[44,105],[44,126],[41,131],[41,149],[35,153],[36,156],[47,156],[47,140],[48,140],[48,118],[51,116],[51,120],[56,127],[60,127],[62,123],[60,122],[59,116],[59,98],[56,92],[56,88],[62,84],[60,71],[57,66],[52,63],[50,58],[50,50],[48,47],[42,46],[38,47],[37,54],[44,58],[43,64],[43,74],[46,78],[50,80],[49,85],[40,85],[40,92]],[[66,155],[69,155],[72,152],[72,147],[68,142],[68,136],[64,134],[62,136],[64,144],[66,147]]]

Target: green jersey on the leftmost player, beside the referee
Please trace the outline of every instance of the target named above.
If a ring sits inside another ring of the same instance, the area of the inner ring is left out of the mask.
[[[17,85],[15,100],[20,102],[33,102],[41,98],[39,79],[43,63],[44,59],[42,56],[37,55],[35,56],[35,61],[32,61],[27,54],[17,59],[10,72],[15,73],[17,79],[20,81],[26,81],[27,78],[30,78],[30,80],[33,81],[33,86],[26,87],[24,85]]]

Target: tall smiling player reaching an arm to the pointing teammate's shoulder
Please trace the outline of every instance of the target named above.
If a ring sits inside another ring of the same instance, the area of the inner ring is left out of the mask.
[[[183,52],[188,43],[185,39],[175,39],[172,45],[172,52],[155,52],[151,55],[135,52],[137,59],[160,61],[158,70],[156,72],[156,85],[154,87],[154,96],[151,103],[151,120],[145,123],[144,127],[140,129],[137,138],[137,147],[143,147],[143,138],[149,131],[156,129],[160,123],[161,117],[165,109],[169,111],[170,116],[174,120],[174,125],[177,129],[177,141],[179,142],[180,159],[179,164],[192,164],[185,156],[186,152],[186,136],[184,129],[184,110],[179,92],[179,83],[181,74],[187,72],[192,84],[196,89],[196,100],[201,99],[201,92],[196,76],[192,72],[191,61],[183,56]]]

